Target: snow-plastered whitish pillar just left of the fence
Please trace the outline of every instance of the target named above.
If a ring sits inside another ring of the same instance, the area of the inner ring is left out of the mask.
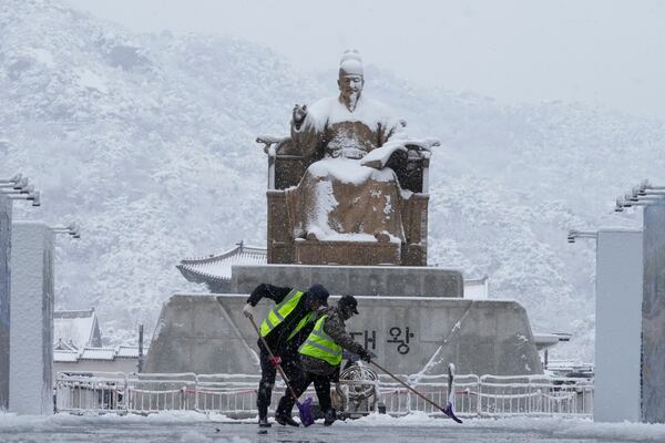
[[[53,231],[12,224],[9,410],[53,413]]]

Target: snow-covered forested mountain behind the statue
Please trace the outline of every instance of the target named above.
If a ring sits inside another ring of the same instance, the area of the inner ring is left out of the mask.
[[[307,78],[242,40],[137,35],[57,1],[4,0],[0,176],[22,172],[43,192],[42,208],[16,205],[17,218],[83,227],[81,240],[58,241],[57,306],[93,306],[106,340],[135,340],[171,293],[201,290],[175,269],[181,258],[265,244],[266,158],[254,138],[286,134],[294,103],[335,93],[337,55]],[[565,233],[638,226],[612,202],[662,176],[665,122],[504,106],[374,66],[366,78],[365,93],[410,134],[442,141],[430,264],[489,275],[493,297],[520,300],[536,330],[573,332],[560,352],[591,360],[594,250]]]

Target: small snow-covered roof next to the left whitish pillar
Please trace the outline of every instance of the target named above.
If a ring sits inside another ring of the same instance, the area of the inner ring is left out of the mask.
[[[94,308],[53,312],[53,340],[55,348],[59,343],[66,343],[70,349],[101,346],[102,336]]]

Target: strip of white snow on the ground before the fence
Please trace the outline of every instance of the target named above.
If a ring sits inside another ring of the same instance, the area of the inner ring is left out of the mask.
[[[243,424],[243,432],[255,432],[256,418],[245,420],[232,420],[224,415],[202,414],[193,411],[161,412],[158,414],[144,415],[69,415],[57,414],[52,416],[35,415],[16,415],[0,412],[0,434],[16,435],[30,432],[49,432],[53,434],[66,430],[71,434],[74,430],[100,430],[123,429],[132,425],[140,425],[144,439],[150,439],[151,429],[172,429],[174,436],[178,435],[178,441],[192,442],[244,442],[242,436],[226,436],[229,432],[237,432],[237,424]],[[307,440],[313,435],[310,432],[319,431],[321,420],[317,421],[316,427],[298,429],[282,427],[276,424],[270,433],[277,432],[285,437],[305,437]],[[209,425],[208,425],[209,423]],[[154,425],[154,426],[153,426]],[[424,413],[413,413],[401,418],[391,418],[386,414],[370,414],[358,420],[337,421],[332,427],[327,429],[326,435],[330,440],[336,440],[335,435],[349,435],[347,430],[360,432],[360,434],[371,434],[364,429],[376,429],[377,432],[387,434],[398,434],[397,427],[409,427],[413,430],[427,429],[423,435],[431,436],[432,433],[440,432],[441,435],[460,437],[468,435],[471,440],[484,436],[481,441],[490,441],[487,437],[492,435],[511,435],[532,439],[535,442],[556,442],[556,441],[638,441],[638,442],[663,442],[665,441],[665,424],[646,423],[594,423],[585,419],[563,419],[563,418],[503,418],[503,419],[466,419],[463,424],[458,424],[447,419],[432,419]],[[212,432],[208,432],[209,431]],[[218,429],[219,435],[214,433]],[[388,431],[379,431],[379,429]],[[392,431],[390,431],[392,429]],[[437,430],[438,429],[438,430]],[[306,434],[308,436],[306,436]],[[227,440],[224,440],[224,439]],[[273,439],[275,435],[272,436]],[[208,440],[211,439],[211,440]],[[392,441],[387,439],[387,441]],[[38,440],[39,441],[39,440]],[[155,440],[156,441],[156,440]],[[160,440],[161,441],[161,440]],[[508,440],[507,440],[508,441]]]

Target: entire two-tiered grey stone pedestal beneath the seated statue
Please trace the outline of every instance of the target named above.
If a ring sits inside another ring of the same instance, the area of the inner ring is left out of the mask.
[[[516,301],[466,300],[457,270],[399,266],[234,266],[227,295],[175,295],[162,308],[146,372],[259,373],[257,337],[242,308],[263,282],[306,290],[321,284],[358,299],[347,322],[377,361],[403,374],[540,374],[524,309]],[[270,300],[256,307],[260,322]]]

